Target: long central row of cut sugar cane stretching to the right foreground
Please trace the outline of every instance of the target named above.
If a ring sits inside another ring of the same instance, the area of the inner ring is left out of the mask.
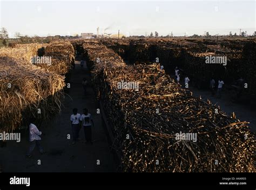
[[[193,97],[159,65],[127,66],[100,43],[83,45],[122,154],[125,172],[255,172],[253,133],[246,121]],[[97,62],[97,60],[99,60]],[[118,88],[136,82],[138,89]],[[197,134],[197,141],[177,140]]]

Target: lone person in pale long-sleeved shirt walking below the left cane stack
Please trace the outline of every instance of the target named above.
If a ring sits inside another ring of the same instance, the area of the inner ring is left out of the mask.
[[[30,119],[30,125],[29,125],[29,141],[30,141],[30,146],[29,150],[26,153],[26,157],[30,158],[32,155],[32,151],[34,148],[37,146],[39,148],[39,152],[41,154],[44,154],[45,151],[43,150],[43,147],[40,145],[39,140],[41,140],[41,137],[39,137],[42,132],[38,130],[35,124],[35,118]]]

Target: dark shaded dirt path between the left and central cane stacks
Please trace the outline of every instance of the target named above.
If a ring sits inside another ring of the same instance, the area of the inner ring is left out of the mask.
[[[96,113],[95,94],[91,87],[87,89],[84,96],[82,79],[90,79],[86,68],[81,69],[76,62],[76,69],[72,71],[71,87],[69,96],[65,97],[64,108],[60,116],[49,121],[46,127],[40,130],[45,133],[42,136],[42,145],[46,154],[41,155],[37,148],[33,151],[32,158],[25,158],[29,147],[28,135],[22,133],[21,142],[8,141],[7,147],[0,148],[0,163],[3,172],[114,172],[116,166],[113,155],[107,143],[106,134],[102,127],[100,114]],[[70,115],[73,107],[82,113],[84,107],[95,123],[92,129],[93,145],[84,143],[84,131],[80,130],[77,144],[72,145],[72,133],[70,126]],[[71,139],[67,135],[71,135]],[[39,160],[41,165],[38,165]],[[99,165],[97,165],[99,161]]]

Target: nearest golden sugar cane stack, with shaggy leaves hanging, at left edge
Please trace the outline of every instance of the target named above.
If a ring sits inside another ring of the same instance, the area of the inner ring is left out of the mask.
[[[31,117],[47,120],[60,111],[64,77],[11,57],[0,57],[0,74],[0,132],[28,126]]]

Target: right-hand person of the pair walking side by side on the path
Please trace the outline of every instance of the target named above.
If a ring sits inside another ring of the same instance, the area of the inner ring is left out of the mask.
[[[83,114],[79,120],[80,120],[80,125],[82,125],[84,128],[84,135],[85,135],[86,142],[90,142],[92,144],[92,125],[94,126],[94,124],[91,118],[91,114],[88,113],[87,108],[84,108]]]

